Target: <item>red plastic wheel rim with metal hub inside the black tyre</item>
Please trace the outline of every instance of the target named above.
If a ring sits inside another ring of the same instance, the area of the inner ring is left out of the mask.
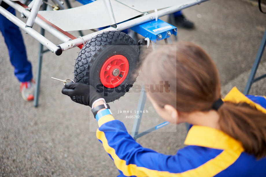
[[[101,67],[101,83],[108,88],[114,88],[122,84],[128,75],[128,59],[123,55],[109,57]]]

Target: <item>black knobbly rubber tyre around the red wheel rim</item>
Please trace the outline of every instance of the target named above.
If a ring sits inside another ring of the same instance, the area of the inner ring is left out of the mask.
[[[103,86],[99,72],[111,56],[120,54],[128,59],[129,71],[125,80],[115,88]],[[139,48],[137,43],[121,31],[108,31],[93,37],[81,49],[75,63],[75,82],[90,84],[97,89],[106,102],[125,95],[138,76]]]

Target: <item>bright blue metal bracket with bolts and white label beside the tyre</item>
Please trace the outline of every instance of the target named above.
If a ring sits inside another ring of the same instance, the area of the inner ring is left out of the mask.
[[[177,35],[177,29],[175,26],[170,25],[160,19],[148,21],[140,25],[131,27],[133,31],[144,36],[149,37],[152,42],[157,42],[162,39],[170,37],[171,34]]]

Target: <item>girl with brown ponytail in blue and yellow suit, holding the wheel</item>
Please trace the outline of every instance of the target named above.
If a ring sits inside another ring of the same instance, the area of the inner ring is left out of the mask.
[[[99,125],[96,136],[119,176],[266,176],[265,97],[245,96],[234,87],[222,99],[217,67],[189,42],[151,52],[142,71],[144,83],[169,82],[170,92],[159,86],[147,92],[158,114],[170,123],[192,125],[186,146],[175,155],[138,144],[93,86],[66,83],[62,89],[73,101],[92,108]]]

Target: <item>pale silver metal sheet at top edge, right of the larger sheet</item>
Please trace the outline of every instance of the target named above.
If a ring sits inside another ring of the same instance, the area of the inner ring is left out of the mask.
[[[164,9],[174,5],[190,4],[188,0],[116,0],[139,12],[147,12],[154,9]]]

